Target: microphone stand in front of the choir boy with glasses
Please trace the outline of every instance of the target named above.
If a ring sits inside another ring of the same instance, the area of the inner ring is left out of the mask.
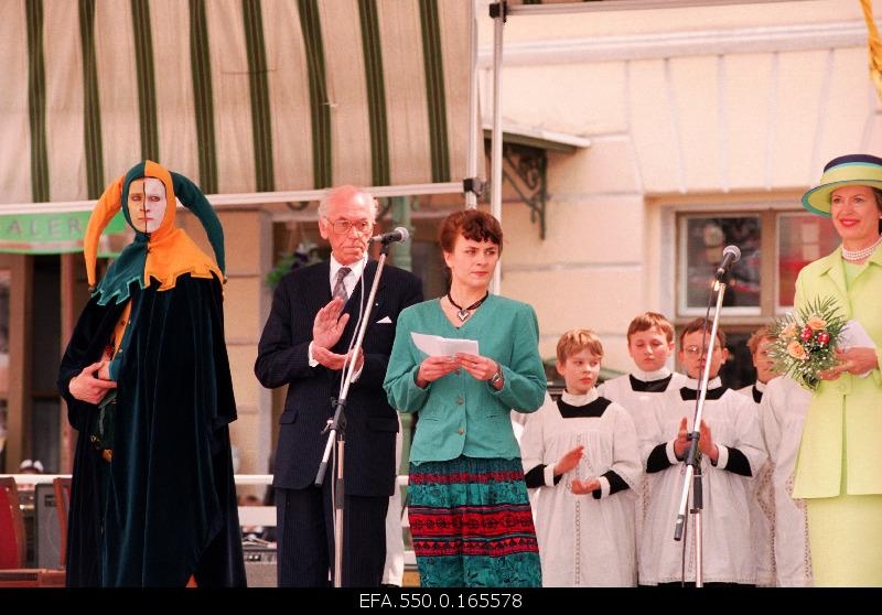
[[[713,290],[717,291],[717,308],[713,312],[713,324],[710,330],[710,346],[717,344],[717,327],[720,321],[720,309],[723,304],[723,293],[725,292],[725,282],[721,279],[713,281]],[[696,587],[703,587],[703,570],[702,570],[702,535],[701,535],[701,511],[704,509],[704,492],[701,482],[701,462],[698,458],[698,440],[700,438],[701,419],[704,413],[704,398],[708,395],[708,379],[710,376],[710,357],[708,357],[707,345],[702,350],[704,357],[704,369],[701,374],[701,379],[698,382],[698,399],[696,400],[696,412],[692,421],[692,433],[689,434],[689,450],[686,453],[684,463],[686,464],[686,474],[682,478],[682,489],[680,493],[680,505],[677,507],[677,520],[674,522],[674,540],[682,540],[685,526],[686,526],[686,507],[689,503],[689,484],[692,484],[692,508],[689,512],[692,515],[695,522],[692,528],[696,532],[696,551],[695,551],[695,565],[696,565]]]

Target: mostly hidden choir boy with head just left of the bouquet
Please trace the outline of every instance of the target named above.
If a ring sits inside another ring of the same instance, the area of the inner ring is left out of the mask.
[[[777,378],[775,362],[768,357],[768,350],[775,337],[772,328],[763,325],[753,332],[747,339],[756,380],[738,392],[747,396],[756,403],[757,411],[766,385]],[[762,428],[762,421],[761,425]],[[766,449],[766,454],[768,450]],[[772,464],[766,461],[753,479],[753,500],[751,501],[751,536],[753,536],[754,555],[756,558],[756,584],[761,587],[775,586],[775,494],[772,488]]]

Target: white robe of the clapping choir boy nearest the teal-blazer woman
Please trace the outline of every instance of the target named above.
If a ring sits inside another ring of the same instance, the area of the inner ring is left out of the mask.
[[[598,399],[563,393],[571,406]],[[520,441],[524,470],[547,465],[546,486],[531,489],[536,535],[542,565],[542,585],[634,586],[634,503],[641,464],[634,421],[617,403],[610,403],[600,417],[561,417],[557,402],[546,397],[530,416]],[[579,465],[553,483],[553,466],[567,452],[584,446]],[[604,473],[612,470],[630,488],[610,495]],[[602,497],[574,495],[572,478],[600,477]]]

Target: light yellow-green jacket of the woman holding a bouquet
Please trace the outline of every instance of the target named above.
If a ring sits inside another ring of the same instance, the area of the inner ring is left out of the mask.
[[[882,365],[882,249],[876,248],[850,289],[846,287],[841,255],[841,248],[837,248],[799,272],[795,308],[833,296],[840,313],[867,330]],[[879,367],[865,378],[842,374],[818,386],[803,429],[795,481],[795,498],[882,494]]]

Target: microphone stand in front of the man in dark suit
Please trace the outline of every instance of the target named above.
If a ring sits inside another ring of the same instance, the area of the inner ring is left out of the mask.
[[[333,501],[334,501],[334,586],[343,586],[343,524],[344,524],[344,452],[346,449],[346,398],[349,392],[349,385],[352,384],[352,375],[355,371],[355,363],[358,353],[362,348],[362,342],[365,338],[365,331],[370,322],[370,312],[374,309],[374,298],[377,294],[380,277],[383,277],[383,268],[386,265],[386,257],[389,255],[389,244],[392,239],[383,241],[383,249],[380,250],[379,260],[377,261],[377,272],[374,274],[374,283],[370,287],[370,293],[367,298],[367,308],[365,309],[362,317],[362,324],[358,327],[358,335],[355,338],[355,344],[351,353],[351,360],[346,362],[343,366],[343,387],[337,399],[332,400],[335,404],[334,416],[327,421],[325,429],[322,433],[327,433],[327,442],[324,446],[324,454],[322,462],[319,464],[319,472],[315,475],[315,486],[321,487],[324,483],[324,475],[327,472],[327,461],[331,457],[331,451],[335,451],[335,465],[336,465],[336,481],[334,482]]]

